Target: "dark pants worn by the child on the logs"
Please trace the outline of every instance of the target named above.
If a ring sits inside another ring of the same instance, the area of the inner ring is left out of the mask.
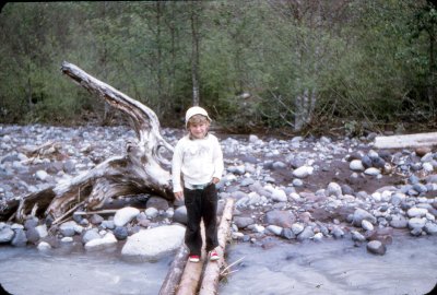
[[[187,231],[185,244],[190,255],[201,255],[202,236],[200,222],[203,219],[205,226],[206,246],[205,250],[211,251],[218,246],[217,240],[217,190],[211,184],[204,189],[184,189],[185,205],[187,206]]]

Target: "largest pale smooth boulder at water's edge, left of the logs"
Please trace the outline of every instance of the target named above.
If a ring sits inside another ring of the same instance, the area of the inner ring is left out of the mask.
[[[135,261],[155,261],[180,247],[186,228],[180,225],[160,226],[141,229],[128,237],[121,255]]]

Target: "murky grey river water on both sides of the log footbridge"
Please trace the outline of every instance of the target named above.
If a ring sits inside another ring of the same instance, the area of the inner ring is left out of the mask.
[[[437,282],[437,237],[399,236],[385,256],[347,239],[227,247],[234,264],[220,294],[425,294]],[[0,283],[21,294],[157,294],[172,257],[125,262],[119,249],[84,252],[61,247],[48,252],[0,247]]]

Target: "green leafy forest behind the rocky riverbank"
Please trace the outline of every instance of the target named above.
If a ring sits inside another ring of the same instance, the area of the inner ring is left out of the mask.
[[[63,61],[153,109],[228,132],[434,129],[437,1],[8,2],[0,123],[119,122]]]

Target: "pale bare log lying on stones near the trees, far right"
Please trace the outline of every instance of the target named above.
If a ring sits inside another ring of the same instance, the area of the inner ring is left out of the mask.
[[[437,132],[377,137],[374,144],[377,149],[406,149],[436,145]]]

